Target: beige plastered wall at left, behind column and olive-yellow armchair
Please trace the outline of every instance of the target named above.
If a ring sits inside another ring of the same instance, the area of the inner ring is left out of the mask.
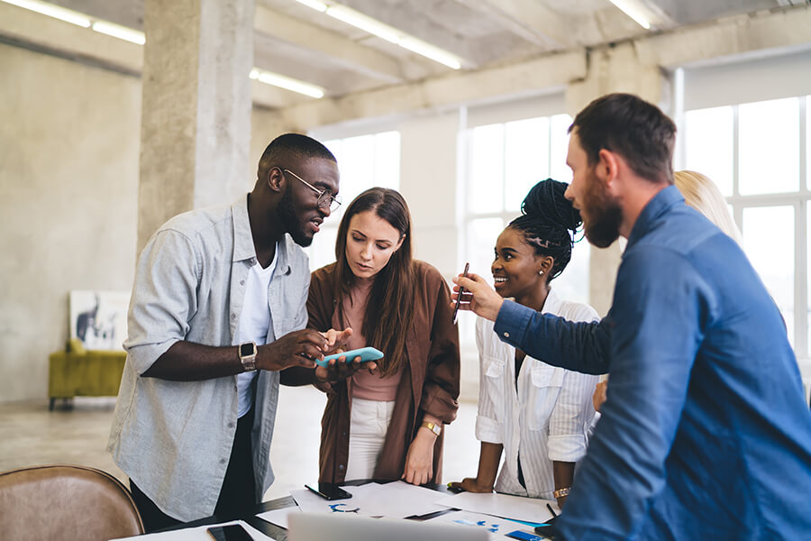
[[[141,79],[0,44],[0,401],[44,399],[68,291],[132,289]],[[251,177],[283,127],[251,115]]]

